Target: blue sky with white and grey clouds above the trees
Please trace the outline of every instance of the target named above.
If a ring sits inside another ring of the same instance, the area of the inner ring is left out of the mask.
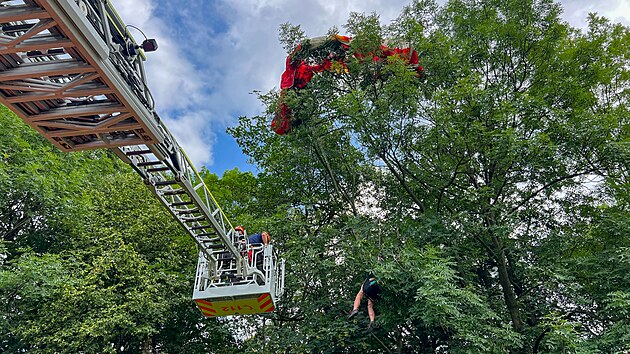
[[[410,0],[111,2],[126,24],[158,41],[146,70],[160,116],[197,168],[221,176],[234,167],[255,171],[225,129],[239,116],[261,112],[253,91],[279,86],[286,57],[278,42],[280,24],[299,24],[306,36],[316,37],[332,26],[341,29],[352,11],[377,12],[389,23]],[[589,12],[630,25],[630,0],[561,2],[573,26],[584,27]]]

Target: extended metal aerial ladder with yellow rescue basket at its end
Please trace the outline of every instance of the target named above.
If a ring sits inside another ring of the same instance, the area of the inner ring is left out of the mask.
[[[131,165],[198,245],[205,316],[272,312],[284,260],[234,230],[161,122],[143,66],[157,43],[129,27],[109,0],[0,0],[0,103],[62,151],[110,149]]]

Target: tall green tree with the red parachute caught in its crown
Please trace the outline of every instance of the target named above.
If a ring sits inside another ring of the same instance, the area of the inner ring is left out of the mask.
[[[414,1],[387,26],[352,14],[347,72],[282,93],[300,126],[265,129],[274,92],[261,96],[267,115],[241,119],[233,134],[267,198],[317,235],[286,240],[289,263],[306,264],[286,306],[303,313],[289,326],[304,350],[624,348],[604,333],[627,324],[600,312],[626,304],[624,282],[595,291],[593,270],[577,269],[614,248],[577,257],[569,245],[595,222],[627,242],[624,194],[604,187],[627,183],[630,35],[596,16],[581,32],[560,14],[550,0]],[[287,48],[302,36],[282,31]],[[418,50],[424,76],[395,56],[365,60],[385,39]],[[609,203],[615,222],[599,211]],[[386,283],[384,341],[327,311],[352,299],[360,268]]]

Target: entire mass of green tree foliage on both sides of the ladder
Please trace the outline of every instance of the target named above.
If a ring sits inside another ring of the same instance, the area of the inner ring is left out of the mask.
[[[260,173],[204,180],[271,231],[287,289],[265,316],[205,319],[192,240],[106,151],[64,154],[0,111],[0,352],[630,351],[630,31],[550,0],[417,0],[351,14],[349,60],[230,129]],[[331,29],[335,33],[336,29]],[[320,34],[316,34],[320,35]],[[281,27],[290,53],[304,39]],[[278,63],[279,67],[282,63]],[[366,271],[384,289],[378,327]]]

